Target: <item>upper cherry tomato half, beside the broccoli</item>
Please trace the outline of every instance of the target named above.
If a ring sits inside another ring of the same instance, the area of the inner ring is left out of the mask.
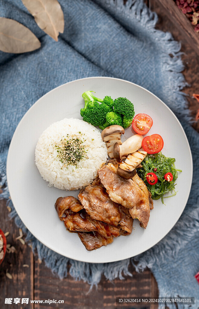
[[[133,130],[141,135],[148,133],[152,125],[153,120],[147,114],[137,114],[132,121]]]

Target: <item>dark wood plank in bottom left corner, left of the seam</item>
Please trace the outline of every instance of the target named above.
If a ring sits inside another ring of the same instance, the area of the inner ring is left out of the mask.
[[[0,308],[2,309],[4,306],[5,308],[8,306],[5,304],[5,297],[13,298],[13,300],[14,298],[34,298],[32,250],[27,244],[23,245],[15,239],[19,236],[19,229],[14,220],[8,218],[8,213],[6,201],[0,201],[0,227],[4,233],[10,232],[6,237],[7,243],[16,248],[15,253],[6,253],[0,265]],[[23,267],[24,264],[29,265],[29,267]],[[6,277],[6,270],[12,275],[13,279]],[[24,304],[17,304],[17,308],[24,308]],[[33,304],[28,304],[28,308],[33,309]]]

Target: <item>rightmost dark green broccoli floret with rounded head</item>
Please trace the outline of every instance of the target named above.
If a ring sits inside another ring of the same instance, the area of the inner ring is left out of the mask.
[[[113,103],[114,112],[122,114],[127,118],[134,117],[134,105],[127,98],[117,98]]]

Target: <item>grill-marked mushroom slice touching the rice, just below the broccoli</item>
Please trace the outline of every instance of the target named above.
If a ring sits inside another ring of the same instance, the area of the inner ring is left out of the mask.
[[[109,127],[105,128],[101,135],[102,140],[106,142],[108,155],[111,159],[114,158],[113,156],[113,146],[115,143],[121,145],[121,135],[124,134],[124,129],[121,125],[110,125]],[[121,161],[121,160],[120,160]]]

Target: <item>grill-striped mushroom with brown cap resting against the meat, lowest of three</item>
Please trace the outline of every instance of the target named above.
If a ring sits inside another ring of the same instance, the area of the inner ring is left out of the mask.
[[[117,174],[125,179],[131,179],[136,174],[136,167],[145,159],[146,151],[138,150],[129,154],[124,163],[118,165]]]

